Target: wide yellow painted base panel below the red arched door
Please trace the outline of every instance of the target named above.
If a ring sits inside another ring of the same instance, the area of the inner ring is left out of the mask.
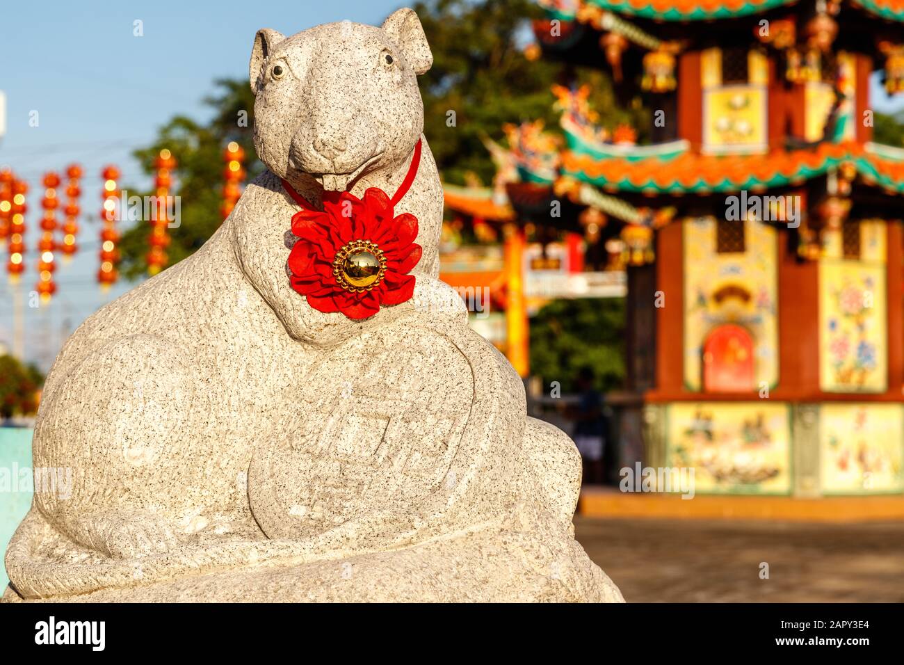
[[[786,404],[669,404],[666,465],[692,467],[702,493],[787,494],[791,432]]]

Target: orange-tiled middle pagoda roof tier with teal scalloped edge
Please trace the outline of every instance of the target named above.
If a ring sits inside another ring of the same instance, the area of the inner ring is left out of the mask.
[[[870,185],[904,193],[904,151],[876,144],[821,143],[762,155],[704,155],[686,151],[667,157],[561,156],[561,173],[611,192],[708,194],[800,185],[851,163]]]

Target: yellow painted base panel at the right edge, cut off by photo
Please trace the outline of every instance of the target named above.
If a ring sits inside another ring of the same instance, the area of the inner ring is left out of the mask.
[[[819,431],[824,493],[904,489],[904,406],[823,404]]]

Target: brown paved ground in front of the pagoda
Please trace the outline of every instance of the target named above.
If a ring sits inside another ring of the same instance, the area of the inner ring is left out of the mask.
[[[904,523],[576,516],[575,527],[628,602],[904,602]]]

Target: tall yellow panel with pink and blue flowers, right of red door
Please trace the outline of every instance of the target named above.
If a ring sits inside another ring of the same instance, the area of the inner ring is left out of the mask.
[[[820,261],[819,385],[833,393],[888,387],[885,266]]]

